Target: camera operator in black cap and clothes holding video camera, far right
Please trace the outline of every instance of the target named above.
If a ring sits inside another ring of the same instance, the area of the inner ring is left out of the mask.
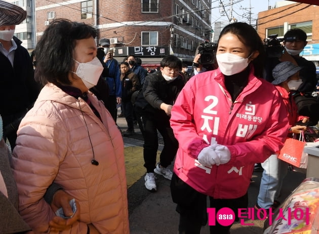
[[[319,104],[312,97],[316,85],[315,65],[299,55],[307,45],[307,34],[299,28],[288,30],[284,35],[284,46],[281,45],[281,40],[277,39],[276,36],[270,35],[269,38],[265,39],[267,61],[264,77],[267,81],[272,82],[271,71],[280,62],[289,61],[301,67],[299,76],[302,79],[302,84],[293,93],[293,97],[298,107],[298,114],[309,116],[310,122],[317,124]]]

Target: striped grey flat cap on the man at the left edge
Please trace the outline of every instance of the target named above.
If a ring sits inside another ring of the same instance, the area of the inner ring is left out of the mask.
[[[0,26],[18,25],[26,18],[21,7],[0,0]]]

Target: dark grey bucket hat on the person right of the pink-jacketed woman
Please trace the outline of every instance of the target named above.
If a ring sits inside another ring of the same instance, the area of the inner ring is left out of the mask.
[[[286,81],[290,76],[300,71],[301,67],[298,67],[297,65],[293,64],[292,62],[282,62],[280,64],[277,64],[272,69],[272,76],[274,78],[274,81],[272,81],[272,84],[280,84],[284,81]]]

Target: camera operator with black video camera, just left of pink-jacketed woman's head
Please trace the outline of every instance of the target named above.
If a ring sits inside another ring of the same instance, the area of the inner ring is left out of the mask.
[[[205,41],[204,43],[201,43],[197,46],[190,77],[205,71],[211,71],[218,68],[215,59],[216,48],[217,45],[215,43],[210,43],[208,41]]]

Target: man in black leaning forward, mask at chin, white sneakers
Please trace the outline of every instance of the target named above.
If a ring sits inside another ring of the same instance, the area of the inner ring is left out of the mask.
[[[170,126],[170,116],[173,104],[184,86],[183,78],[179,75],[181,68],[182,62],[177,57],[164,57],[160,71],[145,77],[142,92],[135,102],[135,111],[144,137],[144,167],[147,170],[145,187],[150,191],[156,191],[154,172],[172,179],[172,171],[167,167],[174,160],[178,142]],[[157,130],[163,136],[164,148],[160,162],[156,165]]]

